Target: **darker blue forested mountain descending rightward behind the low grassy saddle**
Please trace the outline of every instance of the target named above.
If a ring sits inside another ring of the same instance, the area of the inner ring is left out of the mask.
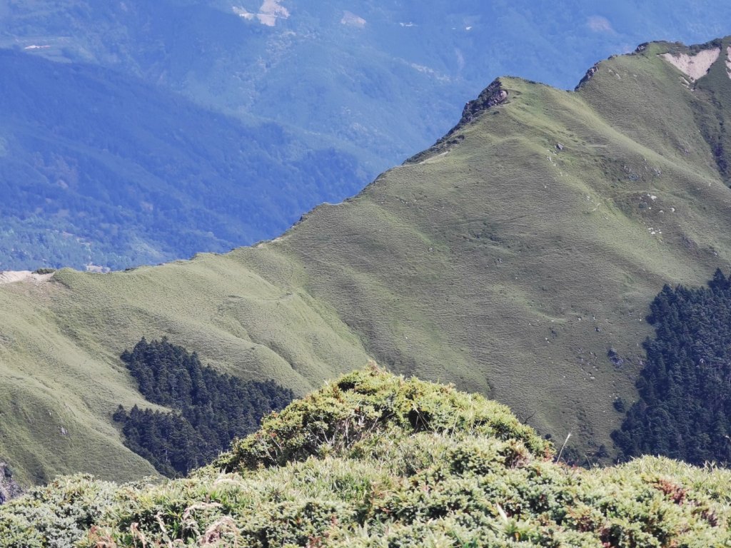
[[[228,251],[365,183],[348,153],[295,157],[301,140],[276,123],[248,125],[129,75],[8,50],[0,73],[0,269]]]

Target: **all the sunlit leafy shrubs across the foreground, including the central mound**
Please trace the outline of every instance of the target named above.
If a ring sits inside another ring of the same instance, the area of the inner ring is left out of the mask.
[[[504,406],[377,368],[265,419],[188,479],[57,479],[0,507],[7,548],[728,546],[729,471],[569,468]]]

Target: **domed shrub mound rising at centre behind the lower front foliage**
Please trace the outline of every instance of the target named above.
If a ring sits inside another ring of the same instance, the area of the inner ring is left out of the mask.
[[[265,417],[259,431],[237,441],[213,466],[246,470],[341,454],[394,428],[403,435],[474,432],[516,438],[537,454],[550,447],[507,407],[417,378],[395,379],[371,365]]]

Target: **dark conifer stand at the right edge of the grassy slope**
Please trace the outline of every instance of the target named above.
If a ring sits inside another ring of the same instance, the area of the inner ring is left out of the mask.
[[[664,286],[648,321],[640,400],[613,438],[624,457],[662,454],[702,465],[731,462],[731,280]]]

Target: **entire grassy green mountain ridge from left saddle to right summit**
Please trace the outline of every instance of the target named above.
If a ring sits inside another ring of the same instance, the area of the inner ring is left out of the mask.
[[[298,395],[374,357],[571,432],[578,460],[612,454],[649,303],[730,265],[730,45],[654,43],[575,92],[501,78],[430,151],[271,242],[1,286],[0,456],[26,482],[153,473],[111,419],[149,406],[118,359],[142,336]],[[697,82],[659,56],[716,48]]]

